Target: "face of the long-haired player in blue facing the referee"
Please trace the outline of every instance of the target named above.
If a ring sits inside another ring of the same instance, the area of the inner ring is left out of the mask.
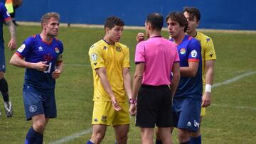
[[[177,21],[172,21],[171,18],[167,20],[167,28],[171,38],[176,38],[184,33],[184,27],[180,26]]]

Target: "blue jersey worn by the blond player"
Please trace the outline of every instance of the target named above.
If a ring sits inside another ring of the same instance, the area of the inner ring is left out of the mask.
[[[33,35],[27,38],[23,45],[16,51],[16,55],[25,57],[26,62],[45,62],[49,67],[44,71],[36,69],[26,69],[24,87],[33,87],[44,94],[53,94],[55,88],[55,79],[51,73],[55,70],[56,62],[61,62],[60,54],[63,52],[63,43],[53,38],[50,43],[46,43],[41,36]]]

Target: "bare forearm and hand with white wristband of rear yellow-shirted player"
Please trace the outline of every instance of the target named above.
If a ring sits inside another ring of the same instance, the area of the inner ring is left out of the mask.
[[[214,60],[206,60],[206,84],[213,85]],[[205,92],[202,97],[202,106],[210,106],[211,93]]]

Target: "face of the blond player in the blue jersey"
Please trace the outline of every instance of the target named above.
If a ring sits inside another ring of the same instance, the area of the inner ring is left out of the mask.
[[[47,23],[43,23],[43,28],[46,30],[47,35],[54,37],[58,35],[59,25],[57,18],[50,18]]]

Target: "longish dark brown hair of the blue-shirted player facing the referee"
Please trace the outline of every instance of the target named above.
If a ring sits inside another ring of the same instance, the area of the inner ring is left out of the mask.
[[[176,21],[180,26],[183,26],[184,32],[186,32],[188,29],[188,21],[183,13],[177,11],[169,13],[169,15],[166,17],[166,22],[169,18],[171,18],[171,21]]]

